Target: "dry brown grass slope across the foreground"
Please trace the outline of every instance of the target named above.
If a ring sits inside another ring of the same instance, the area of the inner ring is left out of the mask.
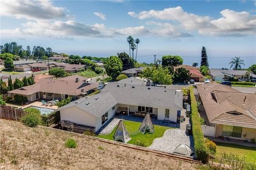
[[[147,152],[72,136],[44,128],[28,128],[19,122],[0,120],[0,168],[20,169],[195,169],[196,165]],[[66,148],[66,139],[77,148]]]

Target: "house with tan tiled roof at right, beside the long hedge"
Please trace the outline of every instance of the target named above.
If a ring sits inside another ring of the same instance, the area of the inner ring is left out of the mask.
[[[197,89],[206,128],[215,128],[212,137],[256,138],[256,94],[242,93],[216,82],[197,84]]]

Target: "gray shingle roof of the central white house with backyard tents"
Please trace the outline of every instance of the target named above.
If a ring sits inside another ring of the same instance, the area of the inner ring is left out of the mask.
[[[95,98],[99,98],[99,100],[95,100]],[[182,98],[182,91],[176,91],[175,89],[108,83],[99,94],[75,100],[68,105],[60,107],[57,111],[76,106],[87,113],[100,117],[116,104],[155,108],[173,107],[180,110],[182,109]],[[90,105],[86,105],[86,103],[90,103]]]

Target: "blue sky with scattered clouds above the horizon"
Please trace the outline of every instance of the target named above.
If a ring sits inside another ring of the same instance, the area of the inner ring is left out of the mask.
[[[256,63],[256,1],[10,1],[1,0],[1,45],[13,41],[54,52],[109,57],[129,53],[127,36],[139,38],[137,60],[180,55],[200,63],[206,47],[212,68],[241,57]]]

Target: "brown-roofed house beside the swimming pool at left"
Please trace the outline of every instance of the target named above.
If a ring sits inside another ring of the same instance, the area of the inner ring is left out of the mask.
[[[66,99],[72,97],[74,100],[86,96],[97,90],[98,84],[87,83],[86,78],[72,75],[67,78],[43,79],[37,83],[8,91],[9,96],[26,96],[28,101],[37,99]]]

